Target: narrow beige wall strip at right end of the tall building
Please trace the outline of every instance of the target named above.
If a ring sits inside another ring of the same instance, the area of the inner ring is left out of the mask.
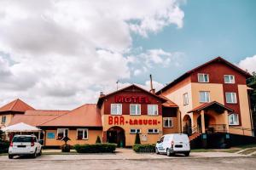
[[[251,136],[252,124],[250,119],[250,109],[247,96],[247,86],[238,85],[238,98],[240,104],[240,113],[241,113],[241,127],[230,128],[230,133],[244,134]],[[242,128],[245,128],[242,130]]]

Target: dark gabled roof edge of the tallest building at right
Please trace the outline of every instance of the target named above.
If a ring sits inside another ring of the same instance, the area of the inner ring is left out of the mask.
[[[236,65],[233,65],[232,63],[230,63],[229,61],[227,61],[226,59],[223,59],[222,57],[217,57],[215,59],[212,59],[210,61],[208,61],[207,63],[204,63],[203,65],[199,65],[197,67],[195,67],[194,69],[190,70],[190,71],[187,71],[185,72],[181,77],[177,77],[177,79],[175,79],[174,81],[170,82],[169,84],[167,84],[164,88],[161,88],[158,92],[156,92],[156,94],[161,94],[162,92],[165,92],[168,88],[172,87],[173,85],[177,84],[177,82],[180,82],[182,81],[184,78],[186,77],[189,77],[189,75],[206,66],[206,65],[210,65],[212,64],[213,62],[216,62],[216,61],[219,61],[219,62],[223,62],[225,65],[229,65],[231,68],[233,68],[234,70],[238,71],[238,72],[241,72],[241,74],[243,74],[245,77],[252,77],[252,75],[250,73],[248,73],[247,71],[243,71],[241,68],[239,68],[238,66]]]

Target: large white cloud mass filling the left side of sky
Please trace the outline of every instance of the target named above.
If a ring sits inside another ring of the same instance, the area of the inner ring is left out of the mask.
[[[0,105],[18,97],[42,109],[94,103],[102,89],[147,71],[125,57],[131,31],[147,37],[171,24],[183,26],[177,0],[2,0]],[[149,64],[172,61],[161,50],[147,53]]]

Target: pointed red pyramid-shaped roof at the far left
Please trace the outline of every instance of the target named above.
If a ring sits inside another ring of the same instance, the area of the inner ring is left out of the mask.
[[[32,106],[27,105],[24,101],[21,99],[15,99],[14,101],[10,102],[7,105],[3,105],[0,108],[0,112],[3,111],[18,111],[18,112],[25,112],[25,111],[30,111],[30,110],[35,110],[32,108]]]

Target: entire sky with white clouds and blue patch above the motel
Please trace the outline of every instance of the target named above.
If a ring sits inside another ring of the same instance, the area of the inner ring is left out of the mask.
[[[217,56],[256,71],[254,0],[0,0],[0,105],[72,110]]]

